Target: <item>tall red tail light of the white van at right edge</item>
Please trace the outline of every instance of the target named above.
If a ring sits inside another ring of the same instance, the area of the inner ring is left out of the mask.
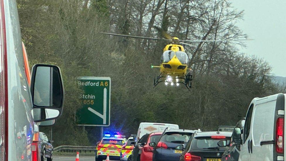
[[[284,152],[284,118],[279,117],[276,122],[276,152]]]

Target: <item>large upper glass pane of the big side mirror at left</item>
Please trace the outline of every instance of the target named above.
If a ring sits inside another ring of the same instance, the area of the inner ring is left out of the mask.
[[[56,67],[38,66],[35,72],[34,105],[40,107],[61,107],[62,88],[58,69]]]

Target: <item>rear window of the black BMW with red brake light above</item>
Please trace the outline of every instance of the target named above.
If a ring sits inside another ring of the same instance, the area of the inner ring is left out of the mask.
[[[227,142],[224,144],[228,144],[230,141],[229,137],[226,137]],[[217,143],[222,139],[213,139],[211,137],[200,137],[200,138],[194,138],[192,142],[192,149],[195,150],[219,150],[224,151],[226,150],[226,147],[219,147]]]

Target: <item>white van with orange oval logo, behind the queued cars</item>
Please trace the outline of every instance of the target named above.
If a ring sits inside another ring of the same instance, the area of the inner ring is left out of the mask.
[[[137,140],[139,140],[145,134],[163,132],[167,127],[171,129],[179,129],[179,126],[176,124],[142,122],[138,128]]]

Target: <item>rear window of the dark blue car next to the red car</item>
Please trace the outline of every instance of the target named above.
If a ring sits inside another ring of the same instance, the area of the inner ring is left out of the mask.
[[[186,132],[167,132],[162,136],[162,141],[169,143],[187,143],[193,133]]]

